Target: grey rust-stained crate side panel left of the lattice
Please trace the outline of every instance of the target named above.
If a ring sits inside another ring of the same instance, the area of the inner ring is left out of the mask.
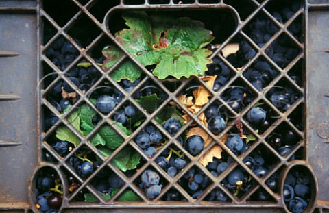
[[[2,6],[23,7],[0,1]],[[36,14],[0,10],[0,209],[26,212],[26,188],[37,163]],[[21,210],[21,211],[19,211]]]

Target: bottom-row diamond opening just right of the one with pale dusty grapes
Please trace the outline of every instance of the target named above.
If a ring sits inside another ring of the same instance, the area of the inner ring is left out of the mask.
[[[193,166],[186,171],[178,183],[188,192],[188,195],[197,199],[212,184],[212,181],[197,166]]]

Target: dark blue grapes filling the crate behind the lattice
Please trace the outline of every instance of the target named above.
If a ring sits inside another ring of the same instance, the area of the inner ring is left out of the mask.
[[[299,5],[296,5],[295,1],[293,1],[293,4],[289,7],[285,7],[280,12],[273,11],[271,14],[279,23],[285,23],[289,20],[289,18],[291,18],[291,16],[293,16],[293,14],[295,14],[298,8]],[[258,47],[263,47],[279,29],[279,27],[266,16],[258,16],[249,26],[251,29],[249,37],[256,43],[256,45],[258,45]],[[302,40],[300,23],[291,23],[288,31],[298,41]],[[212,51],[215,50],[215,48],[212,48]],[[280,68],[284,68],[297,57],[300,50],[293,44],[293,42],[291,42],[291,38],[289,38],[289,36],[282,33],[276,40],[271,42],[267,49],[265,49],[265,53],[269,56],[269,58],[271,58],[271,60],[273,60],[273,62],[280,66]],[[154,162],[156,162],[156,164],[171,178],[176,177],[178,173],[183,171],[184,175],[182,178],[177,180],[177,183],[180,184],[180,186],[182,186],[182,188],[186,190],[186,192],[188,192],[193,199],[197,199],[197,197],[202,195],[204,190],[206,190],[206,188],[211,184],[209,177],[197,168],[197,166],[189,168],[188,171],[184,171],[184,169],[186,170],[186,166],[190,160],[174,144],[169,145],[167,149],[163,150],[162,147],[167,144],[168,140],[155,125],[148,124],[143,129],[138,129],[138,125],[134,126],[135,123],[132,122],[132,118],[136,116],[136,114],[141,113],[136,106],[124,103],[121,109],[116,109],[117,105],[125,98],[125,95],[118,88],[111,86],[110,82],[107,80],[99,82],[102,74],[97,70],[97,68],[92,66],[87,60],[82,60],[80,63],[89,65],[75,66],[69,71],[66,71],[75,58],[77,58],[78,54],[79,51],[77,51],[77,49],[75,49],[70,42],[65,41],[64,38],[60,38],[46,52],[46,55],[51,62],[53,62],[53,64],[55,64],[60,71],[66,72],[66,77],[68,77],[68,79],[75,84],[75,86],[77,86],[80,92],[86,93],[91,87],[94,86],[95,89],[88,93],[88,98],[95,99],[95,108],[97,108],[99,112],[99,114],[96,114],[92,119],[93,125],[96,125],[101,120],[100,114],[109,114],[114,111],[114,114],[110,117],[110,119],[117,123],[121,123],[123,127],[126,127],[131,131],[138,131],[138,134],[136,134],[133,140],[139,148],[143,149],[143,152],[147,158],[154,160]],[[252,47],[252,45],[250,45],[247,41],[242,40],[239,42],[239,51],[229,55],[226,59],[235,68],[241,68],[246,62],[254,58],[255,55],[256,50]],[[102,56],[99,59],[93,58],[93,60],[96,63],[101,64],[104,57]],[[214,92],[218,92],[220,94],[221,101],[225,101],[229,107],[227,108],[227,106],[223,106],[223,104],[217,100],[207,105],[206,109],[202,109],[204,110],[203,113],[206,117],[205,121],[203,121],[206,127],[208,127],[209,131],[213,135],[219,136],[223,130],[228,127],[228,123],[236,119],[234,114],[241,112],[249,106],[249,103],[251,103],[257,95],[255,95],[256,92],[254,90],[249,88],[242,82],[242,80],[239,79],[236,79],[231,86],[227,86],[225,87],[225,90],[223,90],[223,87],[226,86],[231,77],[233,77],[234,71],[231,71],[226,64],[221,62],[219,57],[213,58],[212,63],[208,64],[207,67],[208,71],[206,71],[206,76],[216,76],[212,90]],[[147,66],[145,68],[152,72],[154,67]],[[249,81],[252,86],[256,88],[256,90],[260,91],[266,88],[266,86],[270,84],[273,79],[278,76],[278,74],[279,73],[276,68],[273,68],[273,66],[271,66],[271,64],[269,64],[269,62],[261,56],[255,60],[246,71],[243,72],[243,77],[247,79],[247,81]],[[297,74],[289,71],[288,75],[290,79],[295,82],[294,86],[302,86],[302,81]],[[50,77],[51,80],[54,81],[56,80],[57,75],[51,75]],[[151,80],[143,80],[144,77],[145,75],[143,74],[134,82],[130,82],[128,79],[122,79],[118,85],[121,86],[125,92],[130,94],[133,90],[136,90],[134,91],[134,94],[131,94],[131,97],[136,101],[141,101],[141,98],[154,94],[162,101],[167,101],[168,95],[162,92],[159,86],[152,83]],[[293,105],[300,98],[300,94],[295,91],[293,86],[285,83],[286,82],[278,83],[278,86],[267,90],[265,93],[266,99],[271,101],[272,105],[280,110],[280,112],[285,112],[288,110],[291,105]],[[201,84],[195,80],[194,83],[192,81],[190,86],[192,86],[192,88],[198,88],[200,85]],[[49,93],[47,95],[47,101],[49,101],[53,108],[60,113],[64,113],[64,110],[69,105],[74,105],[75,101],[80,98],[79,94],[75,94],[76,97],[73,95],[73,97],[63,98],[63,91],[67,93],[76,92],[73,88],[71,88],[71,86],[69,86],[69,84],[67,84],[66,81],[60,80],[49,89]],[[195,90],[187,88],[186,90],[180,92],[180,95],[186,95],[186,99],[191,98],[191,102],[194,104],[195,97],[193,96],[193,91]],[[176,108],[176,110],[179,110],[179,112],[184,112],[185,109]],[[259,101],[247,109],[247,113],[243,117],[243,120],[247,123],[247,125],[250,125],[252,129],[258,130],[258,134],[263,134],[271,123],[276,120],[276,114],[273,113],[273,110],[269,108],[269,106],[262,101]],[[47,131],[47,129],[49,129],[57,121],[58,117],[55,114],[46,112],[45,131]],[[166,118],[166,121],[159,123],[162,127],[164,127],[165,131],[167,131],[169,135],[175,138],[175,143],[180,143],[180,145],[193,157],[197,158],[198,155],[204,151],[206,142],[201,135],[193,134],[186,136],[186,132],[183,132],[180,136],[176,136],[182,128],[182,121],[177,118]],[[299,125],[299,123],[301,123],[301,121],[298,121],[296,125]],[[293,124],[295,125],[295,123]],[[195,127],[194,124],[192,126]],[[189,131],[189,128],[190,127],[186,129],[187,132]],[[247,135],[250,134],[250,132],[248,132],[245,127],[241,128],[243,128],[243,131],[241,131],[238,127],[232,127],[228,132],[228,138],[224,141],[228,149],[230,149],[230,151],[237,156],[242,155],[245,151],[247,151],[247,149],[249,149],[249,143],[247,144],[246,140],[243,139],[243,134]],[[278,151],[278,153],[282,156],[287,155],[287,153],[291,150],[291,147],[293,147],[299,139],[300,138],[297,137],[295,132],[285,127],[277,128],[266,138],[269,145],[276,149],[276,151]],[[65,158],[72,150],[72,147],[70,147],[72,145],[70,145],[68,141],[58,140],[58,138],[56,138],[56,140],[52,140],[50,145],[58,153],[58,155],[63,158]],[[158,152],[161,153],[154,158],[154,155]],[[275,163],[267,157],[271,156],[269,154],[270,153],[264,149],[255,149],[243,159],[243,164],[250,168],[250,170],[253,171],[257,177],[261,178],[267,174]],[[240,198],[257,183],[246,171],[243,170],[243,168],[241,168],[241,166],[236,166],[236,168],[228,173],[226,169],[230,167],[234,160],[228,153],[225,153],[225,151],[223,151],[221,155],[221,159],[214,157],[212,162],[208,163],[206,169],[208,169],[214,177],[219,177],[219,175],[225,176],[221,182],[221,186],[227,188],[229,192],[234,194],[234,197]],[[293,155],[289,160],[293,159],[295,159],[295,155]],[[46,160],[53,161],[53,158],[51,158],[51,155],[47,155]],[[74,153],[68,161],[76,173],[82,177],[82,179],[87,179],[90,177],[90,175],[92,175],[101,165],[101,162],[96,158],[92,151],[84,151],[84,149]],[[138,173],[144,162],[145,160],[142,160],[141,164],[138,164],[136,169],[128,170],[125,172],[125,175],[127,175],[127,177],[132,177],[133,173]],[[53,199],[55,199],[51,198],[51,196],[54,197],[54,195],[56,195],[56,199],[58,200],[58,197],[60,197],[60,194],[56,194],[55,192],[49,190],[49,188],[53,188],[56,185],[54,184],[55,182],[53,177],[43,174],[39,177],[40,180],[38,179],[37,181],[38,197],[36,201],[40,206],[40,210],[46,212],[48,210],[59,208],[55,208],[55,205],[50,204],[53,202]],[[69,192],[73,192],[73,190],[78,188],[81,183],[72,175],[67,175],[67,177],[69,181]],[[153,169],[147,168],[138,177],[140,178],[134,181],[134,183],[137,184],[145,193],[147,199],[156,199],[164,188],[164,181],[160,178],[159,173]],[[265,184],[267,184],[271,190],[277,192],[278,179],[278,173],[274,173],[269,179],[267,179]],[[297,177],[295,177],[295,179],[297,179]],[[49,183],[51,186],[48,187],[47,184]],[[97,171],[95,177],[93,177],[90,181],[90,185],[93,186],[93,188],[99,191],[102,195],[110,195],[110,197],[115,190],[121,188],[124,184],[125,182],[116,173],[110,172],[108,168],[103,168],[100,171]],[[306,188],[305,186],[309,188],[309,183],[305,183],[303,186],[297,185],[302,184],[289,185],[287,183],[284,185],[285,197],[287,195],[289,199],[291,193],[293,193],[293,195],[298,195],[297,197],[292,196],[289,201],[285,200],[287,206],[289,206],[289,210],[292,212],[294,212],[296,208],[301,208],[302,204],[304,206],[301,199],[304,199],[306,205],[309,200],[309,195],[302,196],[301,192]],[[293,188],[293,190],[291,190],[289,186]],[[75,201],[84,201],[84,195],[86,193],[88,193],[88,191],[82,189],[75,197]],[[164,201],[186,200],[182,197],[180,192],[175,189],[168,190],[161,199]],[[256,190],[254,195],[248,199],[269,201],[270,198],[265,190],[259,189]],[[215,188],[206,196],[206,200],[230,201],[230,198],[226,195],[226,192],[223,192],[220,188]],[[295,212],[298,212],[298,210]]]

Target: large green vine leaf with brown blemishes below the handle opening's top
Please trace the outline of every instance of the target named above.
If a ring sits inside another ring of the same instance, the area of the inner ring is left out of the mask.
[[[126,12],[122,17],[129,29],[117,32],[115,38],[143,66],[156,64],[153,74],[159,79],[203,76],[206,65],[212,62],[207,58],[212,52],[204,47],[214,37],[201,22],[159,12],[151,16],[141,11]],[[103,55],[106,60],[102,68],[108,70],[124,53],[118,47],[108,46]],[[134,82],[140,75],[141,71],[130,61],[123,62],[111,73],[117,82],[121,79]]]

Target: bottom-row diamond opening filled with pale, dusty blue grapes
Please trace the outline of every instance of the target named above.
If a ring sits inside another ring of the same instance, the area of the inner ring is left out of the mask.
[[[151,166],[140,172],[134,183],[136,186],[139,186],[149,200],[156,199],[160,195],[162,188],[167,185],[167,181],[162,175]]]

